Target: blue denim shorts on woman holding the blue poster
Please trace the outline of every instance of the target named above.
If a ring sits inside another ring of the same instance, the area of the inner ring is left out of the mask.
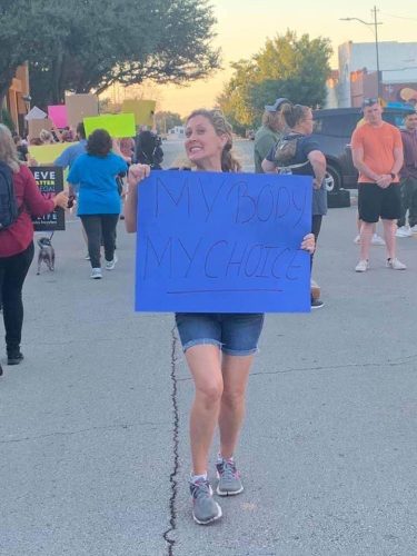
[[[183,351],[209,344],[227,355],[247,356],[258,350],[264,314],[177,312],[176,322]]]

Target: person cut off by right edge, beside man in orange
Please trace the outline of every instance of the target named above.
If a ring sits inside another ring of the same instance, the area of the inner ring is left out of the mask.
[[[396,236],[410,237],[417,234],[417,112],[405,117],[406,129],[401,130],[404,166],[400,171],[401,216]],[[408,211],[408,227],[406,218]]]

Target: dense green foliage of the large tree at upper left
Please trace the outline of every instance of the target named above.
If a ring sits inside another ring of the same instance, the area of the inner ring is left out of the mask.
[[[219,66],[207,0],[0,0],[0,100],[30,62],[33,103],[115,82],[186,82]]]

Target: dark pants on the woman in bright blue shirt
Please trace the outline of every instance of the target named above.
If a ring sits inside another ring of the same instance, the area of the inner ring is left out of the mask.
[[[100,268],[101,238],[105,244],[106,260],[113,260],[119,215],[83,215],[80,218],[87,234],[91,267]]]

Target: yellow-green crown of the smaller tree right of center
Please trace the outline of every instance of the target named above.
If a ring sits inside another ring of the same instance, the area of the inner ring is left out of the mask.
[[[268,39],[251,60],[232,64],[230,81],[218,98],[236,131],[257,127],[265,105],[279,97],[311,107],[326,99],[326,79],[330,72],[330,41],[325,38],[299,39],[294,31]]]

